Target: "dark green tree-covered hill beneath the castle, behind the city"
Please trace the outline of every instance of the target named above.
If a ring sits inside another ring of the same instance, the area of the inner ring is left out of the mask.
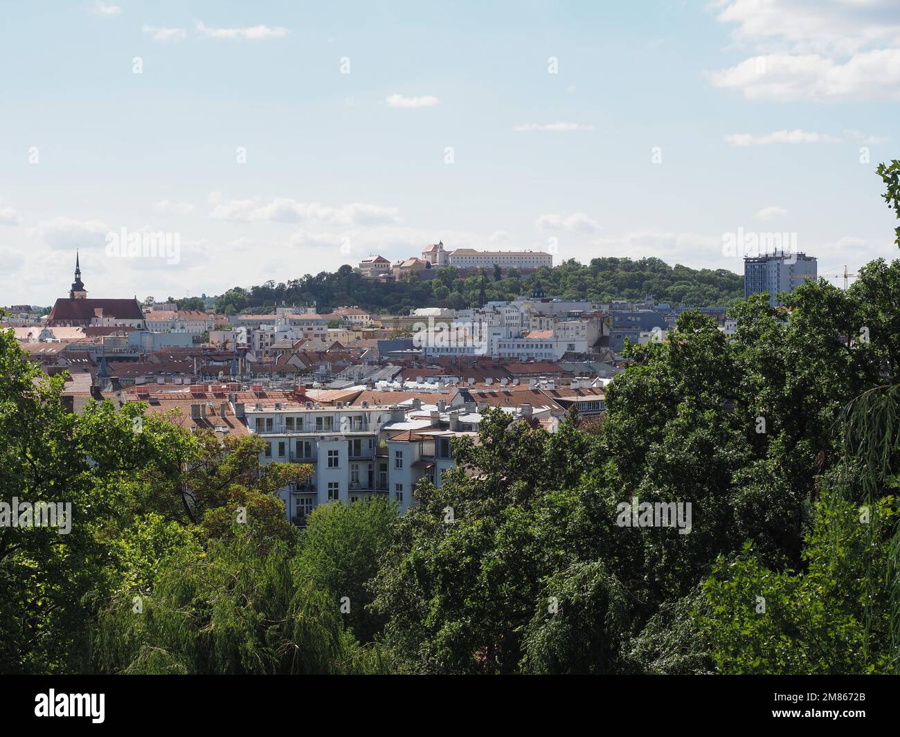
[[[500,276],[486,269],[465,279],[453,266],[437,270],[434,279],[377,283],[364,279],[352,266],[337,272],[306,274],[287,283],[273,281],[250,287],[235,287],[216,299],[216,310],[226,314],[265,312],[276,304],[310,304],[320,312],[340,305],[358,305],[365,310],[392,314],[408,313],[416,307],[477,307],[482,301],[509,301],[530,294],[540,280],[548,296],[591,301],[641,300],[652,294],[656,301],[686,303],[697,307],[730,306],[743,300],[743,276],[726,269],[691,269],[666,264],[659,258],[593,258],[588,265],[574,259],[554,269],[542,268],[522,275],[516,270]]]

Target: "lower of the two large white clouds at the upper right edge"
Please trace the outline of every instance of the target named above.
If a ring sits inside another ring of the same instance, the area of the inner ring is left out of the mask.
[[[712,85],[742,92],[748,100],[859,102],[900,99],[900,49],[864,51],[841,63],[815,54],[768,54],[723,71],[708,72]]]

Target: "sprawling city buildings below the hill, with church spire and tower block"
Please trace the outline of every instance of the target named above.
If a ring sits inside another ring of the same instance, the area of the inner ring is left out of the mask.
[[[458,253],[430,248],[435,264]],[[810,269],[815,278],[815,259],[764,258],[746,260],[748,294],[793,291]],[[141,401],[190,432],[259,436],[261,463],[311,465],[309,481],[281,490],[285,514],[303,525],[330,501],[384,495],[409,508],[421,479],[440,487],[455,467],[451,441],[477,434],[485,409],[549,432],[572,413],[599,416],[605,387],[626,368],[626,340],[665,340],[687,309],[652,297],[555,299],[538,284],[468,310],[282,306],[226,318],[88,298],[76,258],[75,281],[49,316],[17,305],[4,327],[45,373],[67,374],[73,412],[89,400]],[[701,311],[734,331],[724,308]]]

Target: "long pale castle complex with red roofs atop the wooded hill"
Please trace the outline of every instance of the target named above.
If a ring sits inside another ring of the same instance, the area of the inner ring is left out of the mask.
[[[410,256],[393,264],[384,256],[368,256],[359,262],[359,271],[368,279],[399,281],[409,279],[412,274],[418,274],[420,279],[431,279],[437,269],[444,266],[455,266],[466,274],[480,269],[492,269],[495,265],[503,273],[509,269],[526,273],[542,266],[552,269],[554,257],[542,251],[478,251],[474,248],[448,251],[441,241],[425,247],[421,258]]]

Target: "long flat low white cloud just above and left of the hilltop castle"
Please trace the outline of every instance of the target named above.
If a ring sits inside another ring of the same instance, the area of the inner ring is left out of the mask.
[[[379,225],[400,221],[397,208],[365,202],[351,202],[340,207],[327,207],[319,202],[295,202],[277,197],[271,202],[230,200],[225,202],[220,193],[210,193],[213,204],[210,217],[213,220],[232,222],[307,222],[328,225]]]

